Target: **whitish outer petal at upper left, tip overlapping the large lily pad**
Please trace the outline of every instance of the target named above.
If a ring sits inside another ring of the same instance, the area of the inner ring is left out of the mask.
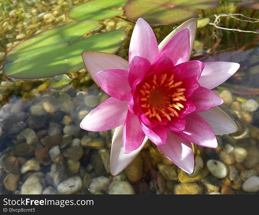
[[[84,51],[82,58],[87,72],[99,87],[100,85],[95,78],[97,72],[109,69],[129,70],[129,62],[115,54]]]

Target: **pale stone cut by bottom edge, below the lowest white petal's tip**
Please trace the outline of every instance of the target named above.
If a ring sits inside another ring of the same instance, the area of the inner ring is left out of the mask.
[[[135,191],[127,181],[112,181],[108,194],[135,194]]]

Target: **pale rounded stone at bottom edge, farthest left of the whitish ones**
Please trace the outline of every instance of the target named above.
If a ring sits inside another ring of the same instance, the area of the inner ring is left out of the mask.
[[[36,176],[27,178],[21,186],[21,194],[41,194],[41,182]]]

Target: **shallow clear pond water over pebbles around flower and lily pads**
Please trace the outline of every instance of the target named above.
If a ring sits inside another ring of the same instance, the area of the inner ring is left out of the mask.
[[[252,186],[249,180],[245,181],[259,175],[259,24],[235,15],[220,17],[216,27],[212,25],[214,14],[238,13],[256,21],[258,10],[235,7],[235,1],[221,1],[216,10],[196,11],[199,17],[208,17],[210,24],[197,29],[192,59],[240,63],[238,72],[213,90],[224,100],[220,108],[235,120],[240,130],[218,136],[216,149],[193,145],[197,166],[191,175],[173,165],[148,141],[125,171],[112,176],[109,155],[113,130],[87,132],[79,128],[84,116],[109,97],[94,84],[84,68],[71,72],[71,82],[62,87],[50,86],[51,78],[13,80],[2,73],[5,56],[14,46],[36,33],[71,21],[68,12],[83,1],[3,2],[0,11],[1,194],[258,193],[244,186]],[[102,27],[86,36],[127,27],[125,42],[115,52],[127,59],[134,23],[125,20],[123,15],[120,17],[100,21]],[[152,25],[158,43],[177,26]],[[217,167],[212,167],[216,172],[211,166]],[[61,184],[62,181],[67,184]],[[71,184],[74,188],[64,191]],[[122,185],[125,190],[114,188]]]

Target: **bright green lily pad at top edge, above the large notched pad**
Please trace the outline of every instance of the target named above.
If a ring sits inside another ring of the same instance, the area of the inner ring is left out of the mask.
[[[123,13],[123,10],[114,8],[123,7],[127,0],[94,0],[74,7],[69,16],[72,19],[107,19]]]

